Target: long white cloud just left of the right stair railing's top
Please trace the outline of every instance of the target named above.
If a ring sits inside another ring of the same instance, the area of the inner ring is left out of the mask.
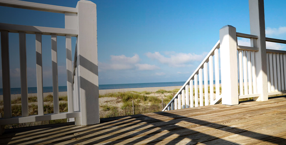
[[[204,54],[197,55],[197,54],[186,54],[186,53],[166,53],[165,54],[169,57],[163,56],[159,52],[146,53],[148,58],[153,60],[158,60],[161,64],[167,64],[172,67],[185,67],[191,65],[194,61],[202,61],[204,59]]]

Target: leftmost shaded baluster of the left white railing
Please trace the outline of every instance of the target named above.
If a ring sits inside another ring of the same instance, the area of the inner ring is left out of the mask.
[[[7,118],[12,117],[11,90],[10,90],[10,65],[9,65],[9,33],[6,30],[0,30],[0,32],[1,32],[3,110],[4,110],[4,118],[7,119]]]

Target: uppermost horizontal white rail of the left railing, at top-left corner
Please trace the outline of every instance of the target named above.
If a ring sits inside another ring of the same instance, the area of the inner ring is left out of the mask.
[[[58,5],[48,5],[42,3],[33,3],[28,1],[18,1],[18,0],[0,0],[0,6],[5,7],[16,7],[21,9],[32,9],[37,11],[53,12],[53,13],[78,13],[78,10],[73,7],[63,7]]]

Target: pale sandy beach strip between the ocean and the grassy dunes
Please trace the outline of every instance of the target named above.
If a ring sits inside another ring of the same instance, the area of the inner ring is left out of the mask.
[[[221,84],[219,84],[221,86]],[[208,85],[209,86],[209,85]],[[108,93],[116,93],[116,92],[127,92],[127,91],[149,91],[149,92],[155,92],[159,89],[163,89],[166,91],[172,91],[174,89],[180,89],[182,86],[170,86],[170,87],[143,87],[143,88],[124,88],[124,89],[101,89],[99,90],[99,95],[104,95]],[[52,95],[52,92],[43,93],[43,97],[45,98],[48,95]],[[37,93],[30,93],[28,94],[28,97],[31,96],[37,96]],[[59,92],[59,96],[67,96],[67,92]],[[11,100],[15,100],[16,98],[21,97],[21,94],[11,94]],[[3,95],[0,95],[0,100],[3,100]]]

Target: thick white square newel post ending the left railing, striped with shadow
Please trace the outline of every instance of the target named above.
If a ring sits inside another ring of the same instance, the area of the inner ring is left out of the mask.
[[[96,4],[80,0],[78,9],[77,68],[81,125],[99,123]]]

